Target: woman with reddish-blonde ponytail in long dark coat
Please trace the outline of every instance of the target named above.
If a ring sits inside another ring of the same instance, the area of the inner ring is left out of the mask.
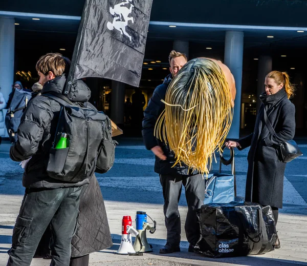
[[[246,180],[246,201],[270,205],[275,223],[278,209],[282,208],[283,177],[286,163],[278,157],[276,147],[290,140],[295,134],[295,107],[289,100],[294,95],[289,75],[272,71],[265,79],[265,92],[260,95],[259,109],[254,132],[238,141],[228,141],[226,146],[239,150],[250,146]],[[275,134],[272,135],[265,124],[264,109],[267,111]],[[280,248],[277,237],[275,248]]]

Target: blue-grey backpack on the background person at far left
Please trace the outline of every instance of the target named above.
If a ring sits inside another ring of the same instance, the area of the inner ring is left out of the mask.
[[[17,129],[20,124],[20,119],[30,99],[31,92],[15,89],[11,104],[5,116],[5,126],[12,143],[17,141]]]

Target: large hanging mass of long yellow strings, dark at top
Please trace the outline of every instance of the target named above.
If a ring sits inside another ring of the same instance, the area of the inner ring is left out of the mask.
[[[190,60],[172,80],[155,136],[177,163],[208,174],[212,154],[222,150],[232,121],[231,91],[220,66],[207,58]]]

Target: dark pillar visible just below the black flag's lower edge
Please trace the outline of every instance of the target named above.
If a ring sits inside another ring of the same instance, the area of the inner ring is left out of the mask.
[[[112,80],[111,119],[117,125],[124,124],[125,84]]]

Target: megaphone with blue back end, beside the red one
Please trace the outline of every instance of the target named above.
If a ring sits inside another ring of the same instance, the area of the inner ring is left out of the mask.
[[[151,234],[155,233],[156,231],[156,221],[153,221],[149,216],[149,218],[153,221],[154,226],[151,227],[147,222],[147,214],[146,212],[137,212],[136,216],[136,230],[139,233],[138,238],[136,238],[134,242],[134,250],[138,252],[152,252],[150,245],[148,244],[147,237],[146,237],[146,230],[149,230]]]

